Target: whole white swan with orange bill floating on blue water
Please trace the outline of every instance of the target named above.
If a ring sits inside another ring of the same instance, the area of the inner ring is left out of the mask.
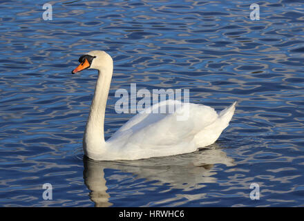
[[[209,106],[167,100],[154,104],[151,110],[178,107],[173,113],[141,111],[105,141],[104,115],[113,59],[102,50],[93,50],[82,55],[79,63],[73,74],[85,69],[98,70],[83,139],[84,154],[93,160],[138,160],[191,153],[216,142],[234,115],[236,102],[216,113]],[[188,117],[180,120],[180,115],[185,113]]]

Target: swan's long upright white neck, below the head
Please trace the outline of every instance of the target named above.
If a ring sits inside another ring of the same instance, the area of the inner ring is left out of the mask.
[[[105,150],[104,115],[106,113],[106,100],[113,74],[113,65],[98,69],[98,79],[95,93],[88,115],[86,131],[84,132],[84,152],[86,155],[102,154]]]

